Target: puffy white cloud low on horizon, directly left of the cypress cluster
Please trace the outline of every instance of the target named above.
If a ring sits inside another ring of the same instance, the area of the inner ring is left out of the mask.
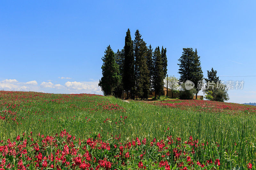
[[[99,87],[94,84],[87,84],[85,82],[66,82],[65,86],[70,90],[90,90],[90,91],[98,91]]]

